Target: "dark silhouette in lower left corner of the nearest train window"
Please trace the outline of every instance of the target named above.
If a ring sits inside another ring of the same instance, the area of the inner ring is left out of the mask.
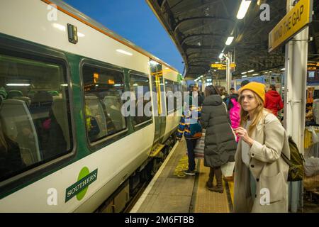
[[[26,167],[21,158],[18,143],[9,138],[3,131],[0,121],[0,179]]]

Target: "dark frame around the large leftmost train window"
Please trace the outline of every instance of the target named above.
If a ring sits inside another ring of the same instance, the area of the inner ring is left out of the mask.
[[[60,63],[65,72],[65,79],[68,84],[68,95],[67,108],[68,123],[69,123],[69,133],[70,134],[70,145],[68,153],[56,157],[55,159],[49,160],[47,162],[38,162],[40,165],[30,165],[30,168],[18,173],[8,179],[4,179],[0,182],[0,199],[9,195],[12,190],[17,191],[26,187],[29,184],[43,178],[43,175],[50,175],[52,171],[57,168],[61,168],[68,162],[72,162],[74,157],[77,156],[77,137],[75,131],[75,121],[74,121],[74,99],[72,94],[72,78],[71,71],[69,67],[69,62],[65,52],[62,50],[55,50],[54,48],[46,47],[36,43],[30,43],[26,40],[21,40],[19,38],[13,38],[9,35],[0,35],[0,52],[11,57],[21,57],[26,60],[38,60],[40,62],[57,62]],[[43,60],[45,59],[45,60]]]

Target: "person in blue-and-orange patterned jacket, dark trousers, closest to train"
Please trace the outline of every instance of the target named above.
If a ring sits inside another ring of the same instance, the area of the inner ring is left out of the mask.
[[[181,140],[184,133],[187,145],[187,155],[189,157],[189,169],[184,173],[190,176],[194,176],[196,174],[194,148],[198,138],[201,138],[201,128],[197,128],[198,132],[191,132],[191,124],[193,126],[197,125],[200,127],[198,123],[200,118],[201,111],[198,109],[198,106],[194,105],[193,97],[189,95],[184,103],[183,114],[181,115],[181,121],[179,122],[179,128],[177,129],[177,140]]]

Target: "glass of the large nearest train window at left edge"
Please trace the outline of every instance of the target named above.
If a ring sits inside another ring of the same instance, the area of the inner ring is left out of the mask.
[[[72,150],[65,63],[30,58],[0,52],[0,181]]]

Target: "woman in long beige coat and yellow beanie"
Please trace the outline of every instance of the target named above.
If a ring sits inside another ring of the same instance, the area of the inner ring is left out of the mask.
[[[286,131],[264,109],[264,84],[251,82],[240,89],[240,136],[235,155],[235,212],[288,212],[290,157]]]

